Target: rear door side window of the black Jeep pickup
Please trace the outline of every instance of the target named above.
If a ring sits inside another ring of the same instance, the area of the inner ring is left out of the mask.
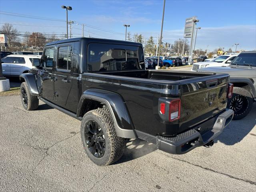
[[[58,48],[57,69],[71,70],[72,47],[63,46]]]

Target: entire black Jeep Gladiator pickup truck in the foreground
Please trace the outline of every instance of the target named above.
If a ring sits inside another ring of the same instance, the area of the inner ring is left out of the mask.
[[[22,104],[38,99],[81,120],[88,157],[117,161],[126,138],[172,154],[212,146],[233,118],[228,74],[145,70],[142,44],[72,38],[46,44],[40,63],[21,74]]]

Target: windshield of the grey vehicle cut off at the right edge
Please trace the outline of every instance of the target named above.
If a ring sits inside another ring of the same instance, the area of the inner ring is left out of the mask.
[[[256,67],[256,53],[241,53],[231,62],[231,64]]]

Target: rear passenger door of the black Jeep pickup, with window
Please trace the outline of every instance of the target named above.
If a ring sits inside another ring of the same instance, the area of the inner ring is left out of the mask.
[[[56,69],[54,71],[54,103],[66,108],[72,87],[72,44],[62,44],[56,50]]]

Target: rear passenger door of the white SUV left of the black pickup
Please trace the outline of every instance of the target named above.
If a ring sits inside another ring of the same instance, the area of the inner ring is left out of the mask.
[[[26,61],[24,57],[13,57],[10,65],[10,72],[12,76],[19,76],[26,70]]]

